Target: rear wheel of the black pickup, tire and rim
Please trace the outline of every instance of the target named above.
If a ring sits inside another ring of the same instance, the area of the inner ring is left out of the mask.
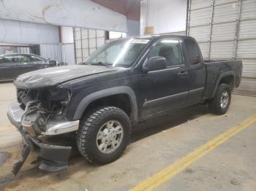
[[[225,114],[230,106],[230,101],[230,86],[227,84],[221,84],[217,87],[214,98],[209,101],[209,109],[214,114]]]

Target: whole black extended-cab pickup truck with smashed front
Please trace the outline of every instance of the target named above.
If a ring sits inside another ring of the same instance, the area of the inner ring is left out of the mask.
[[[225,114],[241,70],[241,61],[203,61],[192,37],[161,35],[118,39],[79,65],[22,74],[7,114],[25,140],[13,173],[31,149],[40,169],[67,168],[72,147],[45,137],[75,134],[83,157],[106,164],[124,152],[132,124],[200,103]]]

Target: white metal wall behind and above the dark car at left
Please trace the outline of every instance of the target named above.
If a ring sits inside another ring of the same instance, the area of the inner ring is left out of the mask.
[[[6,47],[15,47],[14,52],[20,53],[35,53],[29,47],[38,45],[43,58],[61,62],[58,26],[0,19],[0,42],[7,44]],[[19,45],[16,47],[10,43]]]

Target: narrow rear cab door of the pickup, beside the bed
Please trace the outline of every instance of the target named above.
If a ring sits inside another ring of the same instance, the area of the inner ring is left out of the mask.
[[[194,39],[184,39],[184,47],[187,52],[187,65],[189,66],[189,95],[186,105],[193,105],[202,101],[206,84],[206,66]]]

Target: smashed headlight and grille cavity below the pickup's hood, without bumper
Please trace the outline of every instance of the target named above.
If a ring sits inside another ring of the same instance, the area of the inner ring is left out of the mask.
[[[71,98],[71,91],[60,87],[37,90],[18,90],[18,101],[25,107],[22,125],[31,134],[39,135],[47,129],[49,121],[66,120],[64,114]]]

